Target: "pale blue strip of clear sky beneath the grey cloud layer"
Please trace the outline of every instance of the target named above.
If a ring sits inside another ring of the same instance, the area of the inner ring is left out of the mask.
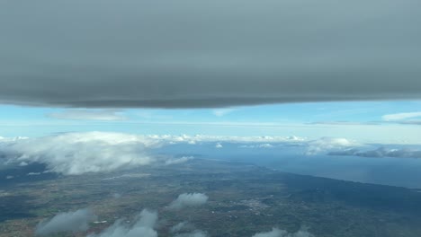
[[[421,116],[417,114],[420,108],[421,101],[285,103],[188,110],[66,110],[3,105],[0,136],[112,131],[158,135],[336,136],[372,143],[418,144],[421,142],[418,138]],[[390,120],[386,119],[387,115],[398,117]]]

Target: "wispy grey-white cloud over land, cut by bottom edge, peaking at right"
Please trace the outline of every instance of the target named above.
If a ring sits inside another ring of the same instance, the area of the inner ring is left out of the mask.
[[[157,224],[157,212],[143,210],[134,224],[128,225],[124,220],[118,220],[102,233],[90,234],[87,237],[157,237],[154,226]]]

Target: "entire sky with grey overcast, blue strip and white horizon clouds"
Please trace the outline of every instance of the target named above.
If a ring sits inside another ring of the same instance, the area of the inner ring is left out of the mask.
[[[417,0],[1,1],[0,158],[80,174],[162,162],[148,155],[158,144],[238,141],[419,158],[418,9]]]

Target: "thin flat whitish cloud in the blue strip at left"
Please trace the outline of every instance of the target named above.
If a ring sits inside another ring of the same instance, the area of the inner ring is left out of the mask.
[[[75,120],[124,120],[126,117],[121,110],[64,110],[49,113],[50,118],[75,119]]]

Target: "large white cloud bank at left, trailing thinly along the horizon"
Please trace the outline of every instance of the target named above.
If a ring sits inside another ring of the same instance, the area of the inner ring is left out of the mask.
[[[121,168],[147,165],[156,162],[156,156],[148,155],[151,149],[169,144],[196,145],[222,142],[270,147],[269,143],[303,141],[295,136],[136,136],[121,133],[85,132],[65,133],[36,138],[16,137],[0,140],[0,153],[8,163],[27,165],[40,162],[49,171],[66,175],[86,172],[114,171]],[[118,159],[116,159],[118,157]],[[192,157],[170,159],[165,163],[187,162]]]

